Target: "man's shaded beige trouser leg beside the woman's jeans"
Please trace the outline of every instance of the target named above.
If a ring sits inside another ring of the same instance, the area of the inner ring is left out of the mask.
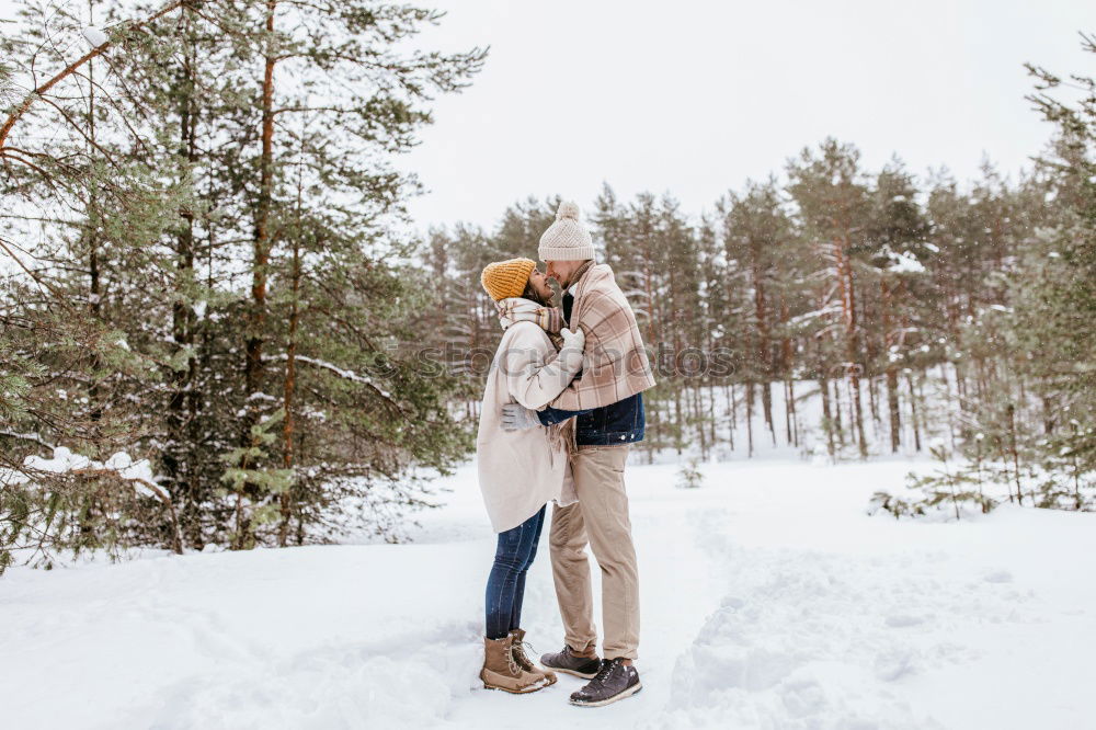
[[[567,646],[579,655],[592,657],[597,646],[597,629],[581,503],[552,507],[548,545]]]

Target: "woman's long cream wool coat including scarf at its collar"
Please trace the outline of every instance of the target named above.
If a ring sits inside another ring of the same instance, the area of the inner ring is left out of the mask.
[[[575,501],[567,454],[549,444],[547,427],[502,430],[504,404],[539,410],[563,391],[574,372],[556,356],[540,327],[515,321],[535,315],[535,303],[511,298],[499,304],[505,332],[488,373],[476,438],[480,491],[495,533],[518,526],[550,501]]]

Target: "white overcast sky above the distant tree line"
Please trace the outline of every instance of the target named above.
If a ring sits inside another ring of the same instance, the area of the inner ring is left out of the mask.
[[[10,16],[12,0],[0,0]],[[529,194],[584,208],[671,192],[690,213],[827,135],[870,167],[1015,175],[1050,129],[1024,99],[1034,61],[1096,73],[1089,0],[436,0],[422,44],[491,46],[401,161],[420,226],[492,226]]]

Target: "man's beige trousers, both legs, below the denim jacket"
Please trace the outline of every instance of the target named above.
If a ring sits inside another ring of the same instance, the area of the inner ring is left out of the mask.
[[[571,457],[579,501],[551,513],[551,570],[569,647],[597,646],[586,544],[602,570],[604,657],[637,659],[639,571],[631,543],[624,466],[628,446],[580,446]]]

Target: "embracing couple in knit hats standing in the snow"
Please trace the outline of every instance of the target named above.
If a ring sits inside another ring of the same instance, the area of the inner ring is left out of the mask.
[[[502,341],[488,374],[477,437],[479,484],[498,534],[486,592],[483,685],[515,694],[553,685],[557,672],[589,682],[572,705],[600,707],[642,687],[639,571],[625,489],[631,444],[643,438],[642,391],[654,385],[636,316],[613,270],[595,263],[574,203],[563,202],[538,258],[489,264]],[[553,307],[555,280],[561,288]],[[525,653],[522,602],[548,503],[548,545],[563,648]],[[602,572],[602,654],[590,546]]]

